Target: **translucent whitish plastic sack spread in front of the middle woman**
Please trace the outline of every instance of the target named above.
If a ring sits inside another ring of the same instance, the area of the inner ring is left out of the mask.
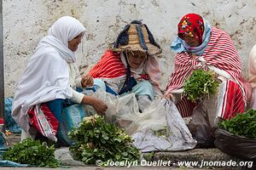
[[[195,139],[171,101],[155,99],[140,113],[135,94],[116,97],[98,89],[93,95],[108,105],[107,122],[125,129],[137,149],[147,152],[195,148]]]

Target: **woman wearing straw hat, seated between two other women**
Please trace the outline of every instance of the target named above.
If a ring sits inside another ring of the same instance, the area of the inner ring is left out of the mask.
[[[134,93],[140,103],[154,99],[160,93],[160,69],[155,56],[161,48],[141,21],[134,20],[119,33],[113,48],[109,48],[89,75],[96,87],[110,94]]]

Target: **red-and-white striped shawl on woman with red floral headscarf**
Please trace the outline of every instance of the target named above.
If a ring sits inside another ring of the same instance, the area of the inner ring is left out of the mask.
[[[207,48],[202,54],[202,57],[206,60],[205,65],[212,65],[229,73],[230,76],[244,88],[244,91],[246,92],[245,95],[248,98],[251,92],[250,86],[241,75],[241,60],[239,59],[229,34],[215,27],[212,27],[211,34]],[[192,54],[183,52],[176,55],[174,63],[174,72],[166,87],[166,94],[170,94],[173,90],[182,88],[185,79],[188,78],[195,69],[195,65],[198,65],[201,62],[193,59]],[[199,68],[207,70],[206,66]]]

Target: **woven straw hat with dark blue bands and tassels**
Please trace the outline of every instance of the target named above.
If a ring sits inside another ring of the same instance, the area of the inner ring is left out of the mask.
[[[161,54],[160,45],[154,41],[154,37],[148,30],[148,26],[140,20],[133,20],[125,26],[124,30],[113,44],[113,51],[142,51],[149,55]]]

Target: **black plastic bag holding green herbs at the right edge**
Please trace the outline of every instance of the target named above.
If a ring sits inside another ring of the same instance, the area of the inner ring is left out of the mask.
[[[215,131],[215,146],[230,156],[256,161],[256,139],[238,136],[224,129]]]

